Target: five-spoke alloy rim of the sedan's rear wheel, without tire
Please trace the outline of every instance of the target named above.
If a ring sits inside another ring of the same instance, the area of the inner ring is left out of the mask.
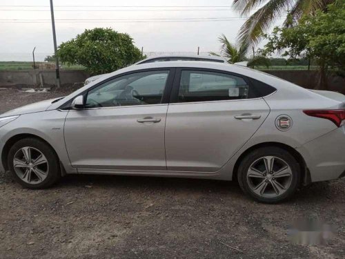
[[[249,166],[246,177],[253,193],[264,198],[275,198],[288,190],[293,173],[281,158],[264,156]]]

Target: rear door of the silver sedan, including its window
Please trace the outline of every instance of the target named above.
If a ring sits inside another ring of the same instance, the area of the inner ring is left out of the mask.
[[[176,73],[166,117],[167,169],[218,171],[270,109],[241,75],[190,68]]]

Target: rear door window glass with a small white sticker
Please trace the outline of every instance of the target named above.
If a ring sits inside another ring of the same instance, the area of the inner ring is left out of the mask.
[[[178,102],[247,99],[250,89],[242,77],[197,70],[183,70]]]

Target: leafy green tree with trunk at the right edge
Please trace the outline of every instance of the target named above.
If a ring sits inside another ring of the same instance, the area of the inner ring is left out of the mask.
[[[266,38],[268,43],[261,50],[264,55],[278,51],[283,57],[313,59],[319,66],[317,88],[327,89],[329,68],[345,70],[345,2],[305,16],[297,26],[276,27]]]

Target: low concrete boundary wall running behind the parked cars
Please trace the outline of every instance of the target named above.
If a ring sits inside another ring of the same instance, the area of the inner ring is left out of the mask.
[[[266,70],[275,75],[305,88],[315,88],[319,78],[315,70]],[[46,85],[55,84],[55,70],[11,70],[0,71],[0,87],[8,85],[39,86],[40,77]],[[61,70],[61,84],[75,84],[85,81],[89,74],[83,70]],[[330,90],[345,93],[345,79],[332,75],[328,78]]]

